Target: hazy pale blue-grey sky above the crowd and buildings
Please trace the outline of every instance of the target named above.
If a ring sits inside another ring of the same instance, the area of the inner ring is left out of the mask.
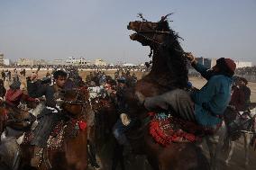
[[[139,63],[150,49],[132,41],[128,22],[169,17],[181,46],[197,57],[256,64],[256,0],[0,0],[5,58],[103,58]]]

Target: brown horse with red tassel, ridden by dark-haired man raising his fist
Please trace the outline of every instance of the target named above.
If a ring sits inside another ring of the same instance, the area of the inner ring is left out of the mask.
[[[87,88],[65,91],[63,114],[67,115],[64,125],[63,140],[60,148],[44,148],[41,164],[36,169],[87,169]],[[61,132],[61,131],[60,131]],[[60,133],[59,132],[59,133]],[[32,146],[22,144],[22,163],[20,169],[30,169]]]

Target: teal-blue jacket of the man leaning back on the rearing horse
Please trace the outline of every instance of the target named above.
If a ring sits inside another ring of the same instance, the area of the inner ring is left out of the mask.
[[[197,122],[204,126],[214,126],[221,122],[219,116],[230,101],[233,78],[224,75],[211,75],[208,68],[197,63],[195,69],[204,76],[208,82],[199,91],[191,94],[195,103]]]

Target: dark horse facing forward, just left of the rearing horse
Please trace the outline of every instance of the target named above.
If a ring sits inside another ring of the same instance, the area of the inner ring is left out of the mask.
[[[112,154],[115,154],[117,146],[112,128],[114,123],[119,118],[114,102],[110,97],[97,96],[91,99],[92,109],[95,112],[95,124],[90,131],[90,140],[96,145],[96,150],[100,158],[102,169],[109,169],[111,162],[116,162],[118,158],[114,159]],[[113,153],[114,151],[114,153]],[[121,153],[122,156],[122,153]]]

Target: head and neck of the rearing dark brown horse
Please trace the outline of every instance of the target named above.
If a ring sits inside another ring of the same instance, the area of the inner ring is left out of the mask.
[[[161,17],[159,22],[148,22],[143,18],[129,22],[127,29],[135,31],[130,35],[131,40],[151,48],[152,67],[147,79],[167,89],[184,88],[188,79],[187,59],[179,45],[178,33],[169,28],[168,16]]]

